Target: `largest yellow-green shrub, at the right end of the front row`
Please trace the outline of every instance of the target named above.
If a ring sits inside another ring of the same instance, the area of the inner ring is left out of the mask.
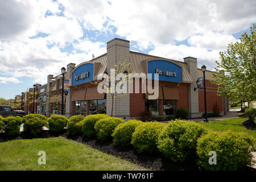
[[[217,164],[209,164],[210,151],[215,151]],[[205,170],[237,170],[243,166],[251,166],[256,151],[255,139],[245,133],[232,131],[211,132],[197,142],[198,164]]]

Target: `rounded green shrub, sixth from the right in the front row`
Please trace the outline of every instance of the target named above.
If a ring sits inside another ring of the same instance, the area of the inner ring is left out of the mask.
[[[96,134],[94,129],[96,122],[104,118],[109,118],[109,116],[106,114],[87,115],[81,123],[82,134],[86,137],[93,137]]]

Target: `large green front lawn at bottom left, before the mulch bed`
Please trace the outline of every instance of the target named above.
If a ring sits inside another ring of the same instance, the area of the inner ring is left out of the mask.
[[[39,165],[39,151],[46,164]],[[63,137],[19,139],[0,143],[2,170],[147,170],[126,160]]]

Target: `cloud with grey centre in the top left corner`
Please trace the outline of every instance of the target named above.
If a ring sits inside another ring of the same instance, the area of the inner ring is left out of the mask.
[[[60,13],[58,3],[51,0],[0,1],[0,39],[23,40],[36,35],[47,11]]]

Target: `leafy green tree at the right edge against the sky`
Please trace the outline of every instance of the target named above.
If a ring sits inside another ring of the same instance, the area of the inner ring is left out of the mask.
[[[251,35],[245,32],[240,41],[230,43],[226,52],[220,52],[220,63],[215,68],[220,74],[213,73],[218,85],[218,94],[230,100],[256,99],[256,24],[251,27]]]

